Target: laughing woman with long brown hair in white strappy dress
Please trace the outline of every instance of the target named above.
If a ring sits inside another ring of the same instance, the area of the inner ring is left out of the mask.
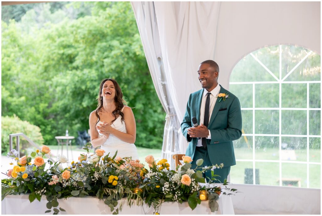
[[[113,79],[100,83],[97,109],[90,113],[90,140],[93,147],[101,146],[113,157],[116,151],[121,158],[138,159],[136,124],[132,109],[124,105],[123,93]]]

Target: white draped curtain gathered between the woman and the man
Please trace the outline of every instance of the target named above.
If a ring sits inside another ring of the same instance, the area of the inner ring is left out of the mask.
[[[214,59],[220,2],[131,2],[156,93],[166,111],[162,158],[185,153],[180,123],[197,69]]]

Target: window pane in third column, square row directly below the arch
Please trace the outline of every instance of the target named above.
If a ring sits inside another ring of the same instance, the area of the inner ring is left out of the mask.
[[[307,84],[283,83],[282,84],[283,108],[307,108]]]

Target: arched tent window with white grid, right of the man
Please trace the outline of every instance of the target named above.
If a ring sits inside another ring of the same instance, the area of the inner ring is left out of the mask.
[[[267,46],[232,70],[242,107],[231,182],[320,188],[320,55],[293,45]]]

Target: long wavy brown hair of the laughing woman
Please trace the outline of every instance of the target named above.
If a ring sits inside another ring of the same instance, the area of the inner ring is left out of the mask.
[[[121,109],[123,108],[124,104],[126,105],[126,102],[123,100],[122,90],[121,90],[120,86],[118,85],[118,82],[116,82],[116,80],[114,80],[114,79],[103,79],[101,81],[101,83],[100,83],[100,86],[99,86],[99,96],[96,99],[98,101],[97,108],[95,110],[95,114],[96,114],[96,116],[98,118],[97,123],[99,123],[99,120],[100,120],[99,112],[102,112],[101,108],[103,106],[103,97],[101,96],[103,85],[108,80],[112,81],[112,83],[114,84],[114,88],[115,88],[114,104],[115,104],[116,108],[112,112],[112,115],[115,117],[115,119],[111,122],[111,124],[118,118],[118,116],[121,116],[121,121],[124,122],[124,114],[121,111]]]

